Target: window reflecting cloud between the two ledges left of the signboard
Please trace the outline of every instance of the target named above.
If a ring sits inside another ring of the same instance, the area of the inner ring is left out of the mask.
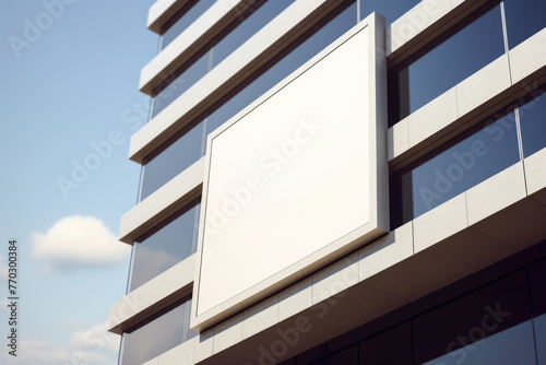
[[[133,243],[130,291],[195,252],[199,203],[175,214],[152,234]]]

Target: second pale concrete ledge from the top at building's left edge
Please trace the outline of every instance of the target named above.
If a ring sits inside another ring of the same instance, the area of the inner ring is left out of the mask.
[[[176,3],[178,2],[185,1]],[[186,63],[203,45],[222,33],[254,2],[256,0],[215,2],[142,69],[140,91],[151,95],[159,83]]]

